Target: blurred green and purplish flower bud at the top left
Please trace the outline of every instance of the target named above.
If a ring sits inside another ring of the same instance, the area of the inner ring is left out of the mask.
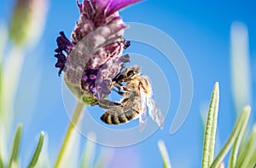
[[[47,4],[47,0],[16,0],[9,27],[15,45],[33,44],[41,36]]]

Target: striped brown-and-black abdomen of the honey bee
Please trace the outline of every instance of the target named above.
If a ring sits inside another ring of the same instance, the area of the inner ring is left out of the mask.
[[[137,104],[132,101],[126,101],[123,106],[110,108],[103,113],[101,119],[108,125],[119,125],[127,123],[131,119],[137,119],[139,111]]]

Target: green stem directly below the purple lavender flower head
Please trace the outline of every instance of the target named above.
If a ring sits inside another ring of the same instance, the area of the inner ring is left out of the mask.
[[[63,156],[65,154],[66,148],[68,146],[68,142],[70,141],[73,131],[75,131],[76,125],[79,124],[79,119],[82,116],[81,114],[83,110],[84,110],[84,103],[81,101],[78,101],[73,112],[73,118],[71,119],[71,122],[68,125],[66,136],[64,138],[64,141],[62,142],[60,153],[58,154],[58,157],[56,159],[55,168],[60,167],[61,165],[61,160],[63,159]]]

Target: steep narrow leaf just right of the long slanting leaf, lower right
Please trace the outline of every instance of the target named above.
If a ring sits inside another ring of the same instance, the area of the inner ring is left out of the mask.
[[[241,146],[242,137],[245,135],[246,128],[247,128],[247,125],[241,125],[240,133],[238,134],[236,141],[230,152],[229,168],[236,167],[237,154]]]

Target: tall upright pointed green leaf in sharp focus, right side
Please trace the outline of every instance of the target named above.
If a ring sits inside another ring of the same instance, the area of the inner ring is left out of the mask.
[[[207,116],[207,125],[205,130],[203,156],[201,161],[202,168],[208,168],[212,164],[214,155],[215,135],[217,129],[218,119],[218,100],[219,90],[218,82],[214,85],[212,90],[212,99]]]

